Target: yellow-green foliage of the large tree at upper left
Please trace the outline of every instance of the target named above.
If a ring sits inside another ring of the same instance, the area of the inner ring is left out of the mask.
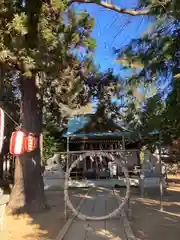
[[[68,10],[66,1],[52,1],[51,6],[40,0],[35,4],[28,0],[26,6],[21,1],[0,3],[0,64],[16,75],[11,78],[16,89],[21,90],[24,76],[39,78],[46,127],[58,128],[69,116],[68,108],[89,101],[84,78],[94,68],[91,53],[96,43],[90,36],[94,24],[87,12]],[[81,52],[87,53],[84,58]]]

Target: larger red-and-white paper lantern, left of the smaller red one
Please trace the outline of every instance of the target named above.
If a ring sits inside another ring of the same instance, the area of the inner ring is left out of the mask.
[[[17,130],[12,133],[10,141],[10,153],[14,156],[19,156],[25,150],[25,133],[22,130]]]

